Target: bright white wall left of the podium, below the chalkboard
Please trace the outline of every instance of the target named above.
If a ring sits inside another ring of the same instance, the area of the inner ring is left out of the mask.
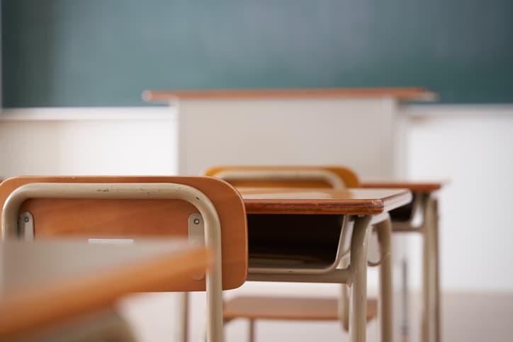
[[[45,108],[0,115],[0,177],[176,174],[169,108]]]

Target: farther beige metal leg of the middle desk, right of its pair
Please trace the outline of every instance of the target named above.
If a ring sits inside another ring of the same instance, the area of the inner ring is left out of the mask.
[[[393,299],[392,299],[392,222],[390,217],[376,224],[380,246],[381,263],[380,296],[378,319],[381,328],[381,342],[393,341]]]

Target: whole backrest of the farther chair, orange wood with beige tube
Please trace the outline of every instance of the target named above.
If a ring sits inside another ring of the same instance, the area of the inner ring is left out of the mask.
[[[235,187],[358,188],[356,173],[341,166],[215,166],[205,171]]]

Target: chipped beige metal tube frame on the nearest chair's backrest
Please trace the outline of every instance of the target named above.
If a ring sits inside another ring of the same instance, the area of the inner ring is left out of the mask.
[[[2,236],[17,227],[18,210],[29,198],[169,199],[184,200],[198,209],[205,221],[205,244],[214,266],[205,277],[207,292],[207,341],[222,341],[221,229],[213,203],[200,190],[176,183],[30,183],[13,190],[1,216]]]

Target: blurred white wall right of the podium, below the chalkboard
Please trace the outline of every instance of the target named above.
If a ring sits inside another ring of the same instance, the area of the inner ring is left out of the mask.
[[[513,291],[513,106],[406,113],[410,176],[449,181],[439,196],[443,287]]]

